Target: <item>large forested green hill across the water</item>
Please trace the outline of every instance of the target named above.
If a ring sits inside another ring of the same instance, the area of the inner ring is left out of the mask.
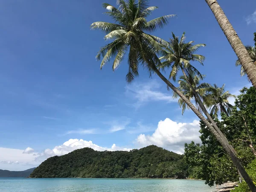
[[[30,177],[178,177],[187,176],[183,155],[155,145],[131,151],[77,149],[50,157]]]

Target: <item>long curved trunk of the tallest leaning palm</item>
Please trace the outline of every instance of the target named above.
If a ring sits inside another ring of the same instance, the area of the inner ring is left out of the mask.
[[[207,119],[198,111],[198,109],[190,102],[189,99],[186,98],[168,79],[165,78],[165,76],[160,73],[160,71],[157,69],[155,65],[152,66],[152,69],[154,72],[175,92],[178,96],[180,96],[181,99],[183,99],[184,102],[189,106],[189,108],[192,109],[192,111],[199,117],[199,119],[204,122],[204,124],[209,128],[209,131],[215,136],[215,138],[218,140],[219,143],[221,143],[224,150],[227,152],[227,154],[230,156],[231,160],[235,164],[236,168],[241,173],[242,177],[244,178],[245,182],[250,187],[250,190],[252,192],[256,192],[256,186],[254,185],[253,181],[250,179],[249,175],[245,171],[244,167],[239,162],[239,159],[236,157],[236,154],[231,150],[230,144],[227,142],[227,139],[224,140],[223,137],[221,137],[220,134],[215,130],[215,128],[207,121]]]

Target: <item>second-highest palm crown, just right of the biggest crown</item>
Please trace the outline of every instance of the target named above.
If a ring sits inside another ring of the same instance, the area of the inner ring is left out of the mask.
[[[169,47],[161,51],[163,55],[160,60],[163,61],[160,68],[171,67],[171,73],[169,79],[176,81],[177,73],[180,69],[184,70],[186,76],[198,75],[201,79],[203,78],[201,73],[190,64],[190,61],[198,61],[203,65],[205,57],[203,55],[195,54],[200,48],[204,47],[205,44],[193,45],[194,41],[185,42],[185,33],[182,34],[180,40],[179,37],[175,36],[172,32],[172,39],[170,39]],[[183,74],[185,75],[185,74]]]

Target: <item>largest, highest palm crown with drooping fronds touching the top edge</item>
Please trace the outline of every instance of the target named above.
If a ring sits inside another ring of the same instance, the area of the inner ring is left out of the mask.
[[[157,52],[162,45],[168,43],[161,38],[150,35],[146,32],[154,32],[168,24],[170,17],[166,15],[147,21],[146,17],[157,9],[155,6],[148,6],[148,0],[117,0],[118,8],[104,3],[103,7],[108,11],[105,14],[111,16],[116,23],[95,22],[91,24],[91,29],[101,29],[107,35],[105,40],[113,40],[110,44],[102,47],[96,59],[102,58],[100,68],[106,62],[114,58],[113,70],[116,70],[128,51],[128,73],[126,81],[131,82],[138,76],[138,65],[146,64],[151,74],[151,64],[160,63]]]

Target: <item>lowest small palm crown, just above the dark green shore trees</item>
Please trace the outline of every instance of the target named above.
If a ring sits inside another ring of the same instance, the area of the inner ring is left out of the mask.
[[[228,91],[225,92],[225,84],[222,87],[218,87],[214,84],[212,87],[208,88],[208,93],[203,96],[204,104],[207,108],[210,108],[210,114],[218,117],[219,112],[226,113],[230,116],[233,105],[228,101],[230,97],[236,98]]]

